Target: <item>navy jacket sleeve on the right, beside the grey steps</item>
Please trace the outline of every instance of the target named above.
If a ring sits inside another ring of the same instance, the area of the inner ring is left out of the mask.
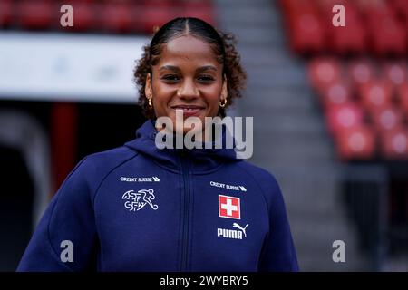
[[[296,249],[282,192],[275,178],[272,177],[272,182],[269,179],[267,184],[269,234],[260,257],[259,271],[297,272]]]

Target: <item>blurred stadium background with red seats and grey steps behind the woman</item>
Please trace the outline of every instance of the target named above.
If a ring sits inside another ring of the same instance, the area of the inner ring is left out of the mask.
[[[238,36],[229,113],[255,117],[250,161],[280,182],[301,269],[408,271],[406,0],[0,0],[0,270],[78,160],[134,137],[133,66],[176,16]]]

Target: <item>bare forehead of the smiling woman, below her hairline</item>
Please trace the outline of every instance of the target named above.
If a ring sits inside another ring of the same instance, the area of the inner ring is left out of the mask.
[[[164,45],[160,53],[159,66],[170,63],[173,65],[201,65],[204,63],[219,65],[211,45],[191,35],[173,38]]]

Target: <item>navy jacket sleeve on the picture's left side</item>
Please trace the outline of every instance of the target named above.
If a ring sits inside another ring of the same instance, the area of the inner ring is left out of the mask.
[[[94,267],[97,238],[85,163],[82,160],[73,169],[51,200],[17,271],[82,271]]]

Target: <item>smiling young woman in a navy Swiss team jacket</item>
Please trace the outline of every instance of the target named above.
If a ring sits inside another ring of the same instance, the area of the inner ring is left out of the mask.
[[[164,24],[135,69],[149,120],[135,140],[73,169],[18,270],[297,271],[272,175],[230,148],[159,149],[155,141],[169,130],[160,117],[224,117],[245,78],[232,37],[197,18]]]

